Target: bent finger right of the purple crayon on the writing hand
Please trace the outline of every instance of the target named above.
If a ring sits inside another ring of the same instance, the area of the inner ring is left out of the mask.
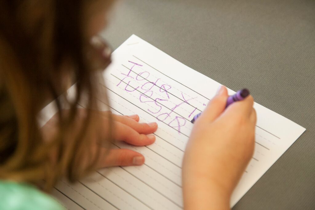
[[[244,100],[237,101],[231,104],[229,107],[227,107],[226,112],[233,111],[244,116],[250,116],[250,114],[252,113],[253,105],[254,99],[251,95],[249,95]]]

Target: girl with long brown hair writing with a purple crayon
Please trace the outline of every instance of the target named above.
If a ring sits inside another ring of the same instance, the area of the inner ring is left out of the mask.
[[[101,167],[144,163],[109,145],[152,144],[157,123],[97,111],[96,79],[110,54],[96,36],[113,2],[0,0],[0,209],[63,209],[46,194],[60,177],[74,182]],[[74,82],[76,96],[63,110],[58,96]],[[83,96],[87,108],[79,109]],[[225,110],[227,97],[221,87],[192,130],[182,167],[185,209],[229,209],[253,154],[253,98]],[[53,99],[58,113],[40,128],[39,112]]]

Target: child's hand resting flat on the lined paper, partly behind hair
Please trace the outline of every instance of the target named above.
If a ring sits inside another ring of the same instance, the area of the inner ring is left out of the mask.
[[[75,136],[83,129],[86,120],[86,109],[78,109],[75,119],[74,128],[71,130],[69,142],[75,139]],[[69,114],[69,111],[64,110],[64,115]],[[114,141],[124,141],[135,146],[150,145],[155,141],[155,135],[151,134],[157,130],[157,123],[139,123],[139,116],[120,116],[112,114],[109,111],[92,111],[92,114],[97,115],[98,120],[93,122],[90,129],[87,129],[82,138],[87,138],[83,141],[89,141],[89,146],[85,147],[89,156],[93,157],[96,151],[98,155],[98,168],[111,166],[132,166],[142,165],[144,157],[138,152],[128,149],[109,149],[108,144],[102,144],[102,141],[112,134]],[[110,120],[111,119],[111,120]],[[45,141],[53,141],[58,128],[58,114],[54,115],[42,128],[43,138]],[[109,141],[109,139],[107,139]],[[81,143],[82,144],[82,143]],[[80,147],[78,147],[80,148]],[[52,160],[56,159],[56,151],[52,150]],[[89,157],[80,159],[80,168],[85,168],[89,161]]]

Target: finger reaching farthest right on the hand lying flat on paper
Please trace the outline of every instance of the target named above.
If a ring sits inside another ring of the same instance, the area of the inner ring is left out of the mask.
[[[154,133],[157,130],[156,122],[139,123],[129,117],[125,117],[121,115],[113,115],[113,119],[115,121],[128,125],[129,127],[133,128],[138,133],[150,134],[150,133]]]

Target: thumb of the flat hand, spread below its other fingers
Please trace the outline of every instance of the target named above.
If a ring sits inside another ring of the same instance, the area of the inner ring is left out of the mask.
[[[111,166],[139,166],[144,163],[144,156],[138,152],[128,149],[111,149],[104,160],[101,160],[100,167]]]

